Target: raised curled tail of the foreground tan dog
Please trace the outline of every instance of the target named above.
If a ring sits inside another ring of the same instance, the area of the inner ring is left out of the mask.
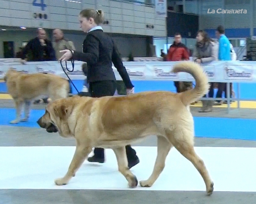
[[[180,99],[185,106],[197,101],[209,91],[207,75],[198,63],[191,61],[176,63],[172,72],[187,72],[195,78],[195,88],[180,93]]]

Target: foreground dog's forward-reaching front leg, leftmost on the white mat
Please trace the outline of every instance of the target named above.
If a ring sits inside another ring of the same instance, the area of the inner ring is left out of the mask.
[[[77,146],[73,159],[71,161],[70,167],[67,174],[63,178],[55,179],[56,185],[66,185],[70,179],[75,176],[76,171],[79,169],[81,164],[83,164],[85,158],[90,154],[91,147]]]

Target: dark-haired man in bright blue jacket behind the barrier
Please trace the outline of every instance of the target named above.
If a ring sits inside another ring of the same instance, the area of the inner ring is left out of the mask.
[[[216,37],[219,41],[219,53],[218,53],[218,60],[231,60],[230,55],[230,41],[225,35],[225,29],[223,26],[218,26],[216,29]],[[216,98],[222,97],[222,92],[224,90],[225,83],[218,83],[218,92],[216,94]],[[214,103],[214,105],[221,105],[221,101],[218,100]]]

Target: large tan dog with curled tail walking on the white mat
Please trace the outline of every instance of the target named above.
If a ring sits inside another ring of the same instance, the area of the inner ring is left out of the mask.
[[[71,97],[47,105],[38,124],[48,132],[58,132],[64,138],[76,139],[76,152],[67,174],[55,180],[64,185],[75,176],[93,147],[111,148],[118,168],[136,187],[137,178],[128,169],[125,145],[157,135],[157,159],[151,176],[140,186],[151,187],[165,166],[166,156],[175,147],[200,172],[207,195],[213,192],[213,182],[194,150],[194,122],[189,104],[208,92],[207,75],[194,62],[176,63],[173,72],[188,72],[196,80],[195,89],[182,93],[166,91],[141,92],[122,97]],[[176,164],[178,165],[178,164]],[[170,184],[171,185],[171,184]]]

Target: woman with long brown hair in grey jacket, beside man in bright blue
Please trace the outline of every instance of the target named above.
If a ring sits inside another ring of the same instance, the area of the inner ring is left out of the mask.
[[[193,61],[196,63],[209,63],[218,60],[218,43],[212,41],[207,32],[199,30],[196,36],[196,44],[193,51]],[[213,83],[210,83],[209,98],[213,98]],[[206,97],[206,95],[204,95]],[[213,101],[202,100],[203,107],[199,112],[211,112]]]

